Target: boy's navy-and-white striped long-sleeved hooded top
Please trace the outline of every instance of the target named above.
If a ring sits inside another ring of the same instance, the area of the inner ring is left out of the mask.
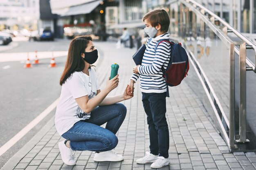
[[[162,66],[167,68],[170,60],[171,45],[162,42],[155,46],[159,40],[170,39],[168,33],[153,38],[146,43],[146,50],[142,58],[141,66],[138,66],[139,74],[133,74],[131,79],[135,82],[140,79],[140,89],[144,93],[164,93],[166,92],[166,82],[162,73]]]

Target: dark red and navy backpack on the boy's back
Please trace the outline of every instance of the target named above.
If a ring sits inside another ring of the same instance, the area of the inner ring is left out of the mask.
[[[151,38],[149,42],[151,41]],[[149,44],[148,42],[148,44]],[[159,40],[155,45],[155,52],[157,46],[161,42],[168,42],[171,44],[171,58],[166,70],[162,67],[164,79],[168,86],[177,86],[188,75],[189,71],[189,57],[186,50],[181,46],[181,43],[170,42],[169,40]],[[169,97],[169,91],[167,86],[167,97]]]

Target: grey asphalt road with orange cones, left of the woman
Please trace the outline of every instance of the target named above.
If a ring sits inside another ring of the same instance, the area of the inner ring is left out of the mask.
[[[18,42],[14,49],[0,52],[67,51],[70,40],[54,42]],[[0,147],[52,104],[61,92],[58,84],[66,56],[56,57],[56,68],[48,68],[50,59],[39,59],[33,68],[23,68],[24,61],[0,62]],[[32,61],[31,61],[32,62]],[[4,69],[6,68],[6,69]],[[24,146],[49,119],[55,109],[18,143],[0,157],[0,168]]]

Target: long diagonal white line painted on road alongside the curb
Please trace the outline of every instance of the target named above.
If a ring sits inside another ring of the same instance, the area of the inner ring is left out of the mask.
[[[56,99],[49,107],[47,107],[40,115],[38,115],[34,120],[32,120],[27,126],[25,126],[20,132],[18,132],[14,137],[12,137],[9,141],[7,141],[0,148],[0,156],[4,154],[9,148],[11,148],[14,144],[16,144],[23,136],[27,134],[32,128],[34,128],[43,118],[45,118],[56,106],[58,103],[58,99]]]

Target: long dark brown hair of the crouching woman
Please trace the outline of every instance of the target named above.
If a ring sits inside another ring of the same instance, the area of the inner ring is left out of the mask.
[[[85,63],[83,58],[81,57],[81,53],[85,52],[89,41],[92,41],[92,38],[90,36],[74,38],[71,41],[67,53],[67,62],[61,75],[61,86],[66,82],[70,75],[72,75],[72,73],[74,73],[75,71],[83,71],[83,69],[85,68]]]

